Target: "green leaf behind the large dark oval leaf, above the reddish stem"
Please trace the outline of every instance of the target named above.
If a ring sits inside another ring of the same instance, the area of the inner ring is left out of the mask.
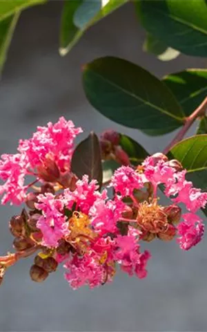
[[[164,77],[164,83],[175,95],[186,116],[201,104],[207,93],[207,70],[186,69]]]

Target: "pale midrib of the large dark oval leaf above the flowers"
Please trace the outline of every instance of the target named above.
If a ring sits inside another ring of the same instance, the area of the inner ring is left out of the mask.
[[[87,70],[87,69],[86,69]],[[90,69],[91,71],[91,69]],[[157,111],[160,111],[161,113],[164,113],[167,116],[170,116],[170,118],[174,118],[175,120],[177,120],[178,122],[183,122],[184,118],[179,118],[177,116],[172,115],[171,113],[168,113],[168,111],[165,111],[164,109],[161,109],[160,107],[157,107],[156,105],[152,104],[151,102],[145,101],[144,99],[140,98],[138,95],[135,95],[134,93],[130,93],[130,91],[122,88],[121,86],[115,84],[114,82],[111,82],[110,80],[108,80],[106,77],[103,77],[102,75],[96,73],[95,71],[91,71],[94,75],[97,75],[98,77],[101,77],[101,79],[105,82],[108,82],[108,84],[110,84],[111,86],[114,86],[116,89],[123,91],[124,93],[126,93],[127,95],[130,95],[130,97],[135,98],[136,100],[141,101],[143,104],[148,104],[150,107],[152,107],[152,109],[156,109]],[[180,121],[181,120],[181,121]]]

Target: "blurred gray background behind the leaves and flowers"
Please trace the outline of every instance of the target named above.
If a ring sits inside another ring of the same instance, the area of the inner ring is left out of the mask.
[[[187,67],[205,67],[206,59],[180,56],[160,62],[142,52],[145,33],[132,4],[90,28],[64,58],[58,54],[61,0],[26,10],[14,33],[1,80],[0,152],[14,153],[19,138],[59,116],[83,127],[85,137],[115,128],[139,140],[148,151],[160,151],[172,135],[150,138],[113,124],[88,104],[81,86],[81,65],[115,55],[158,77]],[[137,77],[139,80],[139,77]],[[161,98],[161,96],[160,96]],[[192,131],[193,132],[193,131]],[[8,220],[18,207],[2,206],[1,255],[12,250]],[[175,242],[148,245],[152,259],[148,278],[117,274],[102,288],[72,291],[63,270],[43,284],[30,280],[32,259],[10,268],[0,288],[1,331],[207,331],[207,241],[189,252]]]

